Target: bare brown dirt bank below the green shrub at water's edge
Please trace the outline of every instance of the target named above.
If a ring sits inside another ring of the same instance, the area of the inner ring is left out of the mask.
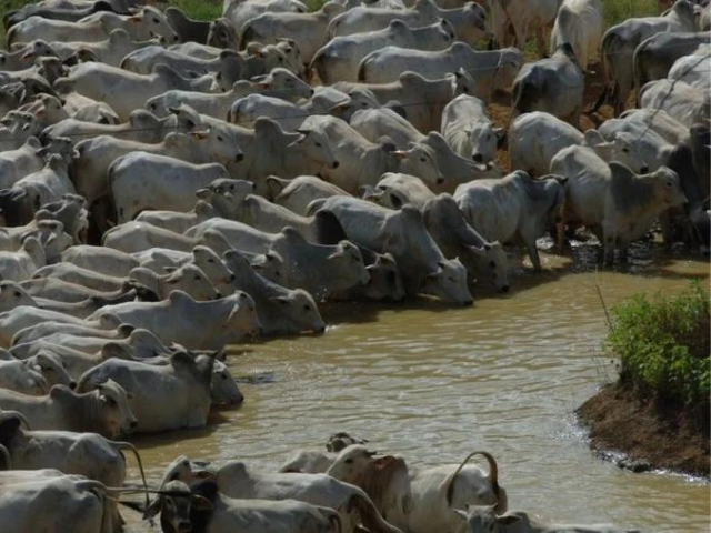
[[[632,463],[709,477],[709,425],[621,383],[603,386],[578,410],[590,446]],[[629,463],[628,463],[629,464]]]

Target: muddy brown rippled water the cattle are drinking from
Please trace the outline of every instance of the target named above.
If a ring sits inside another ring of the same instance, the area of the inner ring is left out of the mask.
[[[243,406],[203,431],[139,440],[150,477],[179,453],[274,470],[290,450],[347,430],[412,462],[489,450],[510,505],[547,520],[709,531],[709,485],[594,459],[572,415],[614,376],[594,283],[611,305],[708,280],[708,263],[641,258],[634,274],[594,274],[545,262],[510,295],[484,294],[470,309],[349,304],[328,310],[322,336],[242,346],[230,366],[252,378]]]

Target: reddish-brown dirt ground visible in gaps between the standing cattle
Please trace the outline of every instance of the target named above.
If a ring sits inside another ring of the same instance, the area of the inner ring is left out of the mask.
[[[602,122],[614,117],[612,108],[607,104],[594,114],[585,114],[584,111],[598,101],[604,90],[602,66],[600,63],[591,63],[589,67],[585,73],[585,103],[583,114],[580,118],[580,131],[598,128]],[[487,111],[489,118],[497,125],[508,131],[509,122],[511,121],[511,94],[498,93],[493,102],[487,107]],[[504,173],[510,171],[509,152],[505,143],[497,152],[497,164]]]

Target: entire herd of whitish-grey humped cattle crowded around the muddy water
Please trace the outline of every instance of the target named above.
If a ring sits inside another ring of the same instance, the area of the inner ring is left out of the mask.
[[[657,222],[708,247],[710,8],[660,13],[607,31],[601,0],[7,13],[0,531],[122,531],[131,493],[166,533],[620,531],[509,511],[487,452],[423,469],[336,434],[274,473],[181,456],[149,490],[124,485],[140,456],[117,439],[241,403],[224,346],[321,333],[324,301],[468,305],[509,291],[503,244],[540,270],[537,240],[563,253],[582,228],[607,264]]]

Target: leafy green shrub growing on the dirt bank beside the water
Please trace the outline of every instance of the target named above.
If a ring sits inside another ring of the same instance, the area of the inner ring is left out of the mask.
[[[709,294],[694,282],[677,296],[638,294],[613,309],[610,348],[620,379],[660,399],[709,410]]]

